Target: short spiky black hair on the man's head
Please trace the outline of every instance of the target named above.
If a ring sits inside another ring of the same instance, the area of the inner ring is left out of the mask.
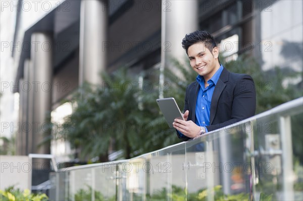
[[[182,47],[185,49],[186,54],[189,46],[195,43],[204,43],[211,52],[214,47],[217,47],[214,37],[207,31],[194,31],[192,33],[186,34],[182,40]]]

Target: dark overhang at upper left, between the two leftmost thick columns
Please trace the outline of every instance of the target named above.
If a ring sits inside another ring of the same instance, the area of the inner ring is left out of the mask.
[[[53,36],[52,48],[56,48],[56,51],[53,51],[54,69],[78,47],[80,4],[81,1],[66,0],[24,32],[23,41],[19,48],[21,54],[15,85],[19,85],[19,80],[24,76],[24,61],[30,58],[31,35],[33,33],[43,32]],[[17,18],[16,23],[18,23],[18,21],[19,18]],[[15,32],[17,31],[18,30],[15,30]],[[16,39],[14,39],[14,44],[18,42],[15,40]],[[13,55],[17,50],[17,48],[13,49]],[[13,92],[18,92],[18,88],[14,88]]]

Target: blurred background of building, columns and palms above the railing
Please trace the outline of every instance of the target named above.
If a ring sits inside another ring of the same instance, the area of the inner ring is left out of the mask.
[[[1,189],[47,186],[50,159],[64,168],[179,143],[155,99],[182,110],[196,75],[181,41],[195,30],[254,78],[257,113],[301,97],[302,13],[301,0],[1,1],[1,160],[37,164],[31,183]]]

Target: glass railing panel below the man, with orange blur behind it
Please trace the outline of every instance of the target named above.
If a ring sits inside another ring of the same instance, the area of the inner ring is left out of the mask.
[[[242,124],[210,133],[186,144],[188,200],[247,200],[251,163]]]

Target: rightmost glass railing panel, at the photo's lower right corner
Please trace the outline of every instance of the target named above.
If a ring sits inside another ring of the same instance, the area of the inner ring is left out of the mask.
[[[276,110],[254,124],[254,197],[302,200],[302,105]]]

